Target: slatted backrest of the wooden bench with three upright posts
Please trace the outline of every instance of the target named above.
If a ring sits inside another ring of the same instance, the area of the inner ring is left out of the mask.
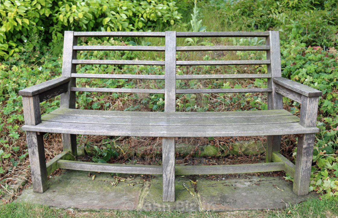
[[[164,93],[165,111],[175,111],[176,94],[267,92],[268,109],[282,109],[282,96],[274,92],[273,77],[281,77],[279,31],[269,32],[74,32],[65,31],[62,76],[71,77],[69,91],[61,96],[61,107],[75,108],[76,91]],[[165,46],[78,46],[78,37],[165,37]],[[176,46],[177,37],[265,37],[265,46]],[[77,51],[163,51],[165,60],[78,60]],[[266,51],[266,60],[184,60],[176,61],[178,51]],[[164,65],[165,75],[77,74],[77,64]],[[180,65],[266,64],[267,74],[176,75]],[[76,78],[160,79],[164,89],[76,87]],[[267,88],[176,89],[176,80],[267,78]]]

